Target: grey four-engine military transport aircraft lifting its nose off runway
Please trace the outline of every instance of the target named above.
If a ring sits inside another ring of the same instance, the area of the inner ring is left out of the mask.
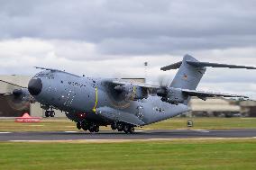
[[[219,94],[197,91],[206,67],[256,69],[235,65],[199,62],[186,55],[182,61],[161,67],[163,71],[178,69],[170,85],[147,85],[122,79],[77,76],[65,71],[40,68],[43,71],[32,77],[28,87],[15,89],[12,94],[22,100],[41,103],[46,117],[53,117],[52,109],[65,112],[77,123],[77,128],[98,132],[99,126],[111,125],[112,130],[133,133],[134,127],[142,127],[163,121],[189,111],[191,96],[202,100],[207,97],[239,97],[235,94]]]

